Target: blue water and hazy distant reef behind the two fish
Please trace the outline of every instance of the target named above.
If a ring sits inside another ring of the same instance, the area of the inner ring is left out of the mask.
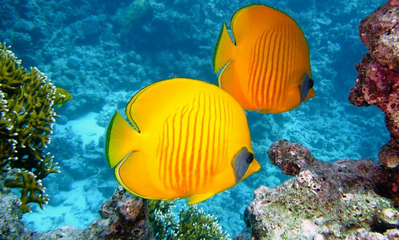
[[[272,142],[301,142],[324,161],[377,160],[389,140],[384,114],[358,108],[347,96],[366,47],[361,19],[385,1],[9,1],[0,0],[0,41],[25,67],[37,66],[73,99],[57,109],[49,151],[60,174],[43,180],[50,196],[41,210],[24,214],[36,231],[59,225],[84,228],[118,186],[104,146],[110,118],[132,95],[164,79],[184,77],[217,84],[212,56],[223,22],[239,8],[265,4],[293,17],[311,53],[316,97],[289,112],[248,112],[255,157],[262,169],[231,189],[198,204],[230,236],[245,227],[242,215],[260,185],[288,177],[269,162]],[[229,27],[228,27],[229,29]],[[183,204],[186,200],[178,201]]]

